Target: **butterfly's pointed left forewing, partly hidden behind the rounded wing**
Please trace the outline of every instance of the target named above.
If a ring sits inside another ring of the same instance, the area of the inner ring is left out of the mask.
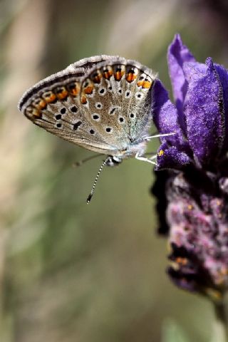
[[[107,146],[98,133],[93,133],[93,125],[86,120],[80,101],[82,76],[104,58],[116,56],[84,58],[44,78],[24,93],[19,110],[33,123],[64,140],[109,154],[114,147]]]

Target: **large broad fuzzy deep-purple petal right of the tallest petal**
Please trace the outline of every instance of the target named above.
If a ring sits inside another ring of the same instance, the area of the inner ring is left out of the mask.
[[[198,162],[208,165],[224,140],[222,86],[211,58],[206,64],[185,63],[189,83],[185,98],[187,138]]]

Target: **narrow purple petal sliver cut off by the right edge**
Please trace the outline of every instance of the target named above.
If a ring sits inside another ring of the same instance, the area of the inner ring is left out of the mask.
[[[223,93],[223,102],[224,102],[224,120],[225,120],[225,137],[223,144],[223,152],[227,152],[228,150],[228,72],[224,68],[224,66],[219,66],[219,64],[214,64],[214,68],[216,69],[220,82],[222,83],[222,93]]]

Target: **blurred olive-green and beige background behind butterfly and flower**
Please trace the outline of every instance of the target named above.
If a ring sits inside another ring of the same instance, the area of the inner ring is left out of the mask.
[[[91,153],[16,106],[41,78],[100,53],[139,60],[170,89],[176,32],[199,61],[228,67],[227,23],[225,0],[0,0],[0,341],[209,341],[212,307],[165,274],[152,167],[106,168],[88,206],[102,157],[73,169]]]

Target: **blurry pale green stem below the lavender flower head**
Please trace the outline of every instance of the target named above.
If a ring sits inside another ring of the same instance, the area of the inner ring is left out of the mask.
[[[214,302],[216,321],[212,342],[228,342],[228,315],[224,300]]]

